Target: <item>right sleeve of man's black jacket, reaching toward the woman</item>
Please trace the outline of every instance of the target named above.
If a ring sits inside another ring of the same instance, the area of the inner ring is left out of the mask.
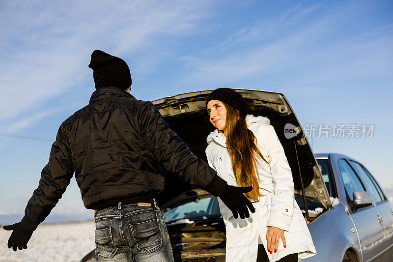
[[[146,102],[141,109],[140,126],[144,142],[167,171],[178,174],[184,181],[215,196],[220,195],[226,182],[191,152],[151,102]]]

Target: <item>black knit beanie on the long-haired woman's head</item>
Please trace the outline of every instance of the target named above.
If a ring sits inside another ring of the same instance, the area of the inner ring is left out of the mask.
[[[207,103],[210,100],[219,100],[225,104],[237,109],[241,116],[246,117],[247,115],[247,104],[243,96],[231,88],[217,88],[212,91],[206,99]]]

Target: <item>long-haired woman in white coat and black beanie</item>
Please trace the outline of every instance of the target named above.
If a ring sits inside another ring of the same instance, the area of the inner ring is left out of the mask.
[[[316,254],[294,199],[291,169],[270,120],[247,115],[244,98],[218,88],[206,100],[210,122],[206,156],[228,185],[253,186],[246,193],[255,213],[234,218],[219,199],[226,226],[226,262],[297,262]]]

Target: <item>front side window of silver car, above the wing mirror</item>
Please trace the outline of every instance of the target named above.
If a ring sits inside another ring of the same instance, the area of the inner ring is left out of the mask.
[[[338,166],[340,168],[342,181],[344,182],[345,192],[347,197],[353,201],[354,191],[365,191],[362,183],[358,176],[355,174],[353,169],[349,166],[348,162],[344,159],[338,160]]]

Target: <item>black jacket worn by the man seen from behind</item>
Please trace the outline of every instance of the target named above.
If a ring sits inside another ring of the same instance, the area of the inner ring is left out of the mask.
[[[74,172],[84,206],[94,209],[107,202],[154,197],[164,189],[165,171],[215,196],[226,185],[151,102],[117,87],[100,88],[87,106],[61,124],[22,222],[34,230],[55,207]]]

